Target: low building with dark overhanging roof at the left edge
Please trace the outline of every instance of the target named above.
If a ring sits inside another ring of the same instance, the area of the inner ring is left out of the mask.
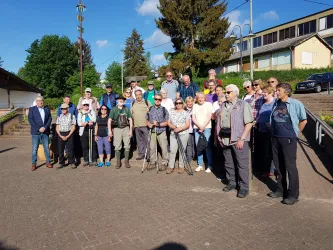
[[[0,68],[0,109],[29,108],[41,90]]]

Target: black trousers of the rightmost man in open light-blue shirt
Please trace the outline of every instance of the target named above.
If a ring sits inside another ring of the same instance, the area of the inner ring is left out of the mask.
[[[277,191],[298,199],[299,178],[296,167],[297,138],[272,138],[273,161],[278,174]],[[288,183],[287,184],[287,174]]]

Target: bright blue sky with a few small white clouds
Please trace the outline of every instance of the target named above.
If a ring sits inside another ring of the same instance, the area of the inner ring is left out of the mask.
[[[228,2],[227,12],[245,0]],[[332,4],[331,0],[318,2]],[[0,0],[0,57],[2,67],[17,72],[24,66],[28,49],[43,35],[64,35],[76,41],[76,5],[78,0]],[[142,35],[146,51],[154,65],[166,64],[164,52],[173,51],[172,44],[152,48],[170,41],[155,24],[160,16],[159,0],[83,0],[85,29],[83,38],[91,44],[98,72],[121,60],[119,51],[136,28]],[[253,0],[253,31],[257,32],[284,22],[330,8],[304,0]],[[181,13],[179,13],[181,15]],[[249,3],[227,14],[231,26],[249,23]],[[229,30],[229,31],[230,31]],[[248,30],[244,30],[246,35]],[[152,48],[152,49],[151,49]]]

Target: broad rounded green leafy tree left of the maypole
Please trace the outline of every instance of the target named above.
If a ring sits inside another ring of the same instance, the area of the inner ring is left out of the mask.
[[[43,36],[27,52],[25,65],[18,72],[20,77],[43,89],[47,97],[71,93],[73,86],[67,80],[78,70],[79,55],[68,37]]]

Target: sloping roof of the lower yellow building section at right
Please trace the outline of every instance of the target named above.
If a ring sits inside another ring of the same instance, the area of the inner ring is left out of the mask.
[[[266,54],[268,52],[274,52],[274,51],[280,51],[280,50],[285,50],[285,49],[293,49],[296,46],[304,43],[305,41],[309,40],[312,37],[317,37],[318,40],[320,40],[327,48],[329,48],[331,51],[333,48],[317,33],[315,34],[309,34],[306,36],[302,37],[295,37],[291,39],[284,40],[282,42],[277,42],[277,43],[272,43],[264,46],[260,46],[258,48],[253,49],[253,55],[261,55],[261,54]],[[247,49],[243,51],[243,58],[250,56],[250,49]],[[237,60],[240,58],[240,52],[236,52],[230,56],[226,62],[230,62],[233,60]]]

